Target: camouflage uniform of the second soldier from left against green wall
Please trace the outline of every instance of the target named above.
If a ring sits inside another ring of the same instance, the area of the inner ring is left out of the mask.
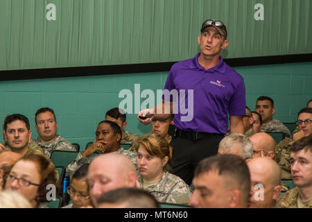
[[[76,151],[76,147],[66,139],[60,137],[60,135],[57,135],[56,138],[48,144],[42,144],[40,137],[34,138],[32,140],[35,144],[41,146],[44,154],[49,158],[51,157],[52,151]]]

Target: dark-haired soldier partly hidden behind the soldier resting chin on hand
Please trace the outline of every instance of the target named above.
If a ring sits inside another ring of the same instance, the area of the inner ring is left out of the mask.
[[[127,122],[125,121],[125,111],[119,108],[112,108],[108,110],[105,114],[105,120],[112,121],[117,123],[117,125],[121,128],[121,144],[130,144],[132,146],[133,142],[139,137],[135,133],[129,133],[125,130],[125,126],[127,126]]]

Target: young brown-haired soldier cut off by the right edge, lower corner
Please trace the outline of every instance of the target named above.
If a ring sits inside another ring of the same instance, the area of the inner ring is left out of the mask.
[[[297,187],[279,196],[283,208],[312,208],[312,135],[291,146],[291,177]]]

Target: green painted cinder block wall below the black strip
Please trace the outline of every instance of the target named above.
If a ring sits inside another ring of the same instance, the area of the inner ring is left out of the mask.
[[[312,99],[312,62],[234,69],[245,80],[246,102],[251,110],[259,96],[270,96],[275,101],[275,119],[294,122],[297,112]],[[37,137],[35,112],[48,106],[55,111],[58,134],[85,150],[87,142],[94,140],[97,123],[105,119],[105,112],[123,101],[124,98],[119,98],[122,89],[130,89],[134,103],[135,84],[140,84],[141,92],[152,89],[156,95],[156,90],[164,87],[167,76],[168,71],[0,81],[0,123],[2,125],[8,114],[24,114],[31,122],[33,137]],[[151,126],[144,126],[136,117],[137,114],[127,114],[126,129],[139,135],[150,132]],[[2,135],[0,142],[3,142]]]

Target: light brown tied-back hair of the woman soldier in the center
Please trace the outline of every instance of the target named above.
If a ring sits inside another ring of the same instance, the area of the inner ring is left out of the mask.
[[[133,145],[135,151],[139,150],[139,146],[142,145],[146,148],[148,154],[152,156],[159,157],[163,159],[164,157],[168,157],[168,162],[164,166],[164,169],[167,171],[171,170],[169,164],[173,159],[173,148],[168,144],[166,139],[160,137],[157,133],[149,133],[144,135],[143,137],[139,137],[135,144]]]

